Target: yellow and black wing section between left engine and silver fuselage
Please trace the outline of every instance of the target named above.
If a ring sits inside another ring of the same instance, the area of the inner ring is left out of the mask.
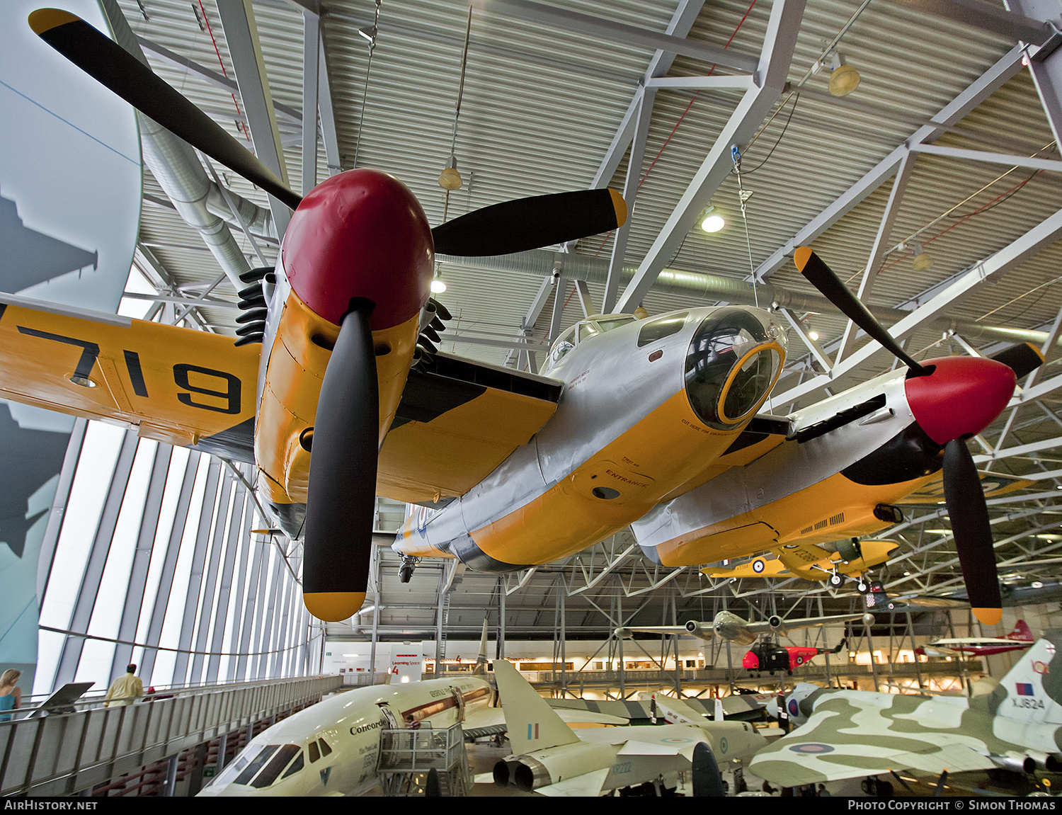
[[[556,410],[563,384],[436,354],[412,370],[380,448],[376,491],[410,504],[464,495]]]

